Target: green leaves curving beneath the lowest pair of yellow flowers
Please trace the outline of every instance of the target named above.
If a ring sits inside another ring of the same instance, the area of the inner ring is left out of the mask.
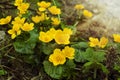
[[[55,79],[61,79],[66,76],[71,76],[71,74],[73,73],[71,72],[71,69],[74,69],[76,66],[73,60],[68,60],[63,66],[54,66],[49,61],[44,61],[43,65],[45,72]]]

